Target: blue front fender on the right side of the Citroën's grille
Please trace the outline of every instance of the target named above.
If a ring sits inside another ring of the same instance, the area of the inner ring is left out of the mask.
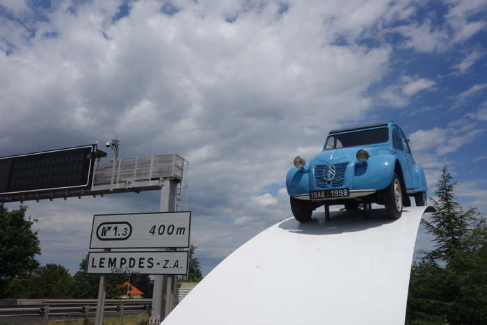
[[[385,189],[392,182],[396,157],[392,154],[372,156],[365,162],[356,161],[353,189]]]

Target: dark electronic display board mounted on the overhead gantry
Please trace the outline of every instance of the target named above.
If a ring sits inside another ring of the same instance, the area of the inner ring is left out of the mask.
[[[0,157],[0,194],[90,186],[96,145]]]

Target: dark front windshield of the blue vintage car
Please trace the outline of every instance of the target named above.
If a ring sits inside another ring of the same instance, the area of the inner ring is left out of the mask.
[[[372,145],[373,143],[383,143],[389,139],[389,129],[368,129],[366,131],[333,134],[328,136],[325,149],[337,149],[346,147],[357,147],[359,145]]]

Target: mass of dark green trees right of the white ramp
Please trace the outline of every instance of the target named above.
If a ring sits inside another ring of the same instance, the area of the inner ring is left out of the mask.
[[[424,221],[436,245],[411,269],[408,324],[487,324],[486,219],[456,202],[455,185],[445,166]]]

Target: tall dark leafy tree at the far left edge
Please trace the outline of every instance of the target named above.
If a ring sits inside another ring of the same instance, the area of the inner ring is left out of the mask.
[[[39,239],[32,231],[37,220],[26,219],[26,209],[21,205],[8,211],[0,205],[0,298],[10,292],[6,290],[10,281],[29,276],[39,266],[34,258],[40,255]]]

